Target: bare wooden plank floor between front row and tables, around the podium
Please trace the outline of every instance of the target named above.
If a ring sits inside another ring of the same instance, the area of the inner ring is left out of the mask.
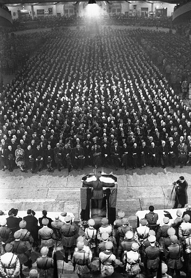
[[[0,202],[1,210],[12,207],[22,211],[33,209],[41,211],[46,209],[52,212],[72,212],[75,220],[80,219],[80,184],[83,176],[94,174],[95,171],[104,174],[112,174],[117,177],[118,193],[116,213],[121,209],[133,227],[136,227],[135,213],[138,210],[148,209],[154,205],[156,209],[166,209],[173,188],[173,181],[183,175],[188,182],[188,204],[191,204],[191,167],[180,169],[167,167],[151,168],[149,166],[126,171],[119,168],[85,168],[84,170],[72,170],[68,174],[67,169],[58,172],[43,170],[32,174],[30,171],[22,173],[20,169],[12,173],[0,171]],[[173,208],[174,194],[168,208]]]

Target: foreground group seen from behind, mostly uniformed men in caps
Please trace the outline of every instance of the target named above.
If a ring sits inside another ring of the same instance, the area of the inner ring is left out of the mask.
[[[56,277],[53,258],[57,247],[62,250],[61,246],[64,252],[63,268],[64,262],[69,265],[72,262],[75,273],[81,278],[92,277],[94,271],[100,271],[102,277],[109,277],[114,269],[124,277],[136,277],[143,273],[150,278],[156,277],[159,272],[161,277],[170,278],[175,272],[180,278],[180,271],[184,271],[187,278],[191,275],[190,205],[185,212],[177,209],[177,217],[170,223],[169,218],[164,217],[160,226],[157,224],[158,214],[151,205],[135,232],[123,211],[118,212],[113,225],[107,218],[102,218],[100,223],[89,219],[77,225],[67,213],[61,213],[65,217],[63,221],[59,215],[55,215],[53,221],[45,210],[39,219],[31,209],[23,219],[17,213],[18,209],[12,208],[5,218],[1,211],[2,277],[19,278],[20,275],[23,278],[23,266],[25,272],[29,271],[28,277]],[[42,256],[38,254],[33,266],[34,251],[40,251]]]

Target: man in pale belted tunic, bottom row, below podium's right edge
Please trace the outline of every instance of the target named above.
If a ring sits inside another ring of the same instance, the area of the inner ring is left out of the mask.
[[[101,262],[101,274],[103,277],[111,276],[114,272],[114,263],[116,256],[112,254],[112,242],[106,242],[106,250],[99,253],[99,260]]]

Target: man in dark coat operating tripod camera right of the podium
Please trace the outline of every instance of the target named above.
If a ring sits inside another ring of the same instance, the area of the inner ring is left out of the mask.
[[[176,183],[173,183],[176,189],[176,196],[175,196],[175,204],[173,208],[177,208],[178,204],[181,205],[181,208],[184,208],[186,204],[186,186],[187,182],[185,181],[184,177],[179,177],[179,180]]]

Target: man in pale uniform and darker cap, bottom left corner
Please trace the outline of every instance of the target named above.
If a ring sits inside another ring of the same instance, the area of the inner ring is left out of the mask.
[[[18,256],[13,254],[13,245],[7,243],[5,246],[6,253],[0,257],[0,274],[1,277],[14,277],[19,278],[20,263]]]

